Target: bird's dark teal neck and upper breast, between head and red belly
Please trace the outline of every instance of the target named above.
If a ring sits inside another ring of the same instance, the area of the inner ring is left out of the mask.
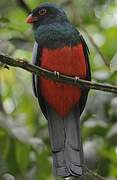
[[[68,22],[51,23],[34,28],[37,43],[46,48],[62,48],[78,43],[78,33]]]

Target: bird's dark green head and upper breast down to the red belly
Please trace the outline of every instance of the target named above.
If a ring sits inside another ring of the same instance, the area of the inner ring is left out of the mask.
[[[33,24],[35,40],[42,47],[57,48],[77,43],[75,28],[60,7],[54,4],[43,4],[35,8],[27,18]]]

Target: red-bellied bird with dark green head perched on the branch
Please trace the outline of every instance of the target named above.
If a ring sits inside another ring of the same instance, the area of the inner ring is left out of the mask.
[[[27,17],[35,38],[33,64],[53,72],[91,81],[89,49],[81,33],[56,4],[44,3]],[[88,88],[66,85],[33,74],[33,91],[48,122],[55,176],[84,177],[80,116]]]

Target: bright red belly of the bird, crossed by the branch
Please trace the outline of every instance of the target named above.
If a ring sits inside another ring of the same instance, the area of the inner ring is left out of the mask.
[[[86,61],[82,45],[49,50],[44,48],[41,67],[58,71],[65,75],[86,77]],[[45,101],[64,118],[81,97],[79,87],[56,83],[46,78],[39,78],[39,88]]]

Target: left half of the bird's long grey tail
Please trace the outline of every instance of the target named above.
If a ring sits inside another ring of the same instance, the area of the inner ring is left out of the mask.
[[[47,107],[47,112],[50,143],[53,152],[53,171],[57,176],[68,177],[70,173],[67,170],[64,155],[64,122],[49,106]]]

